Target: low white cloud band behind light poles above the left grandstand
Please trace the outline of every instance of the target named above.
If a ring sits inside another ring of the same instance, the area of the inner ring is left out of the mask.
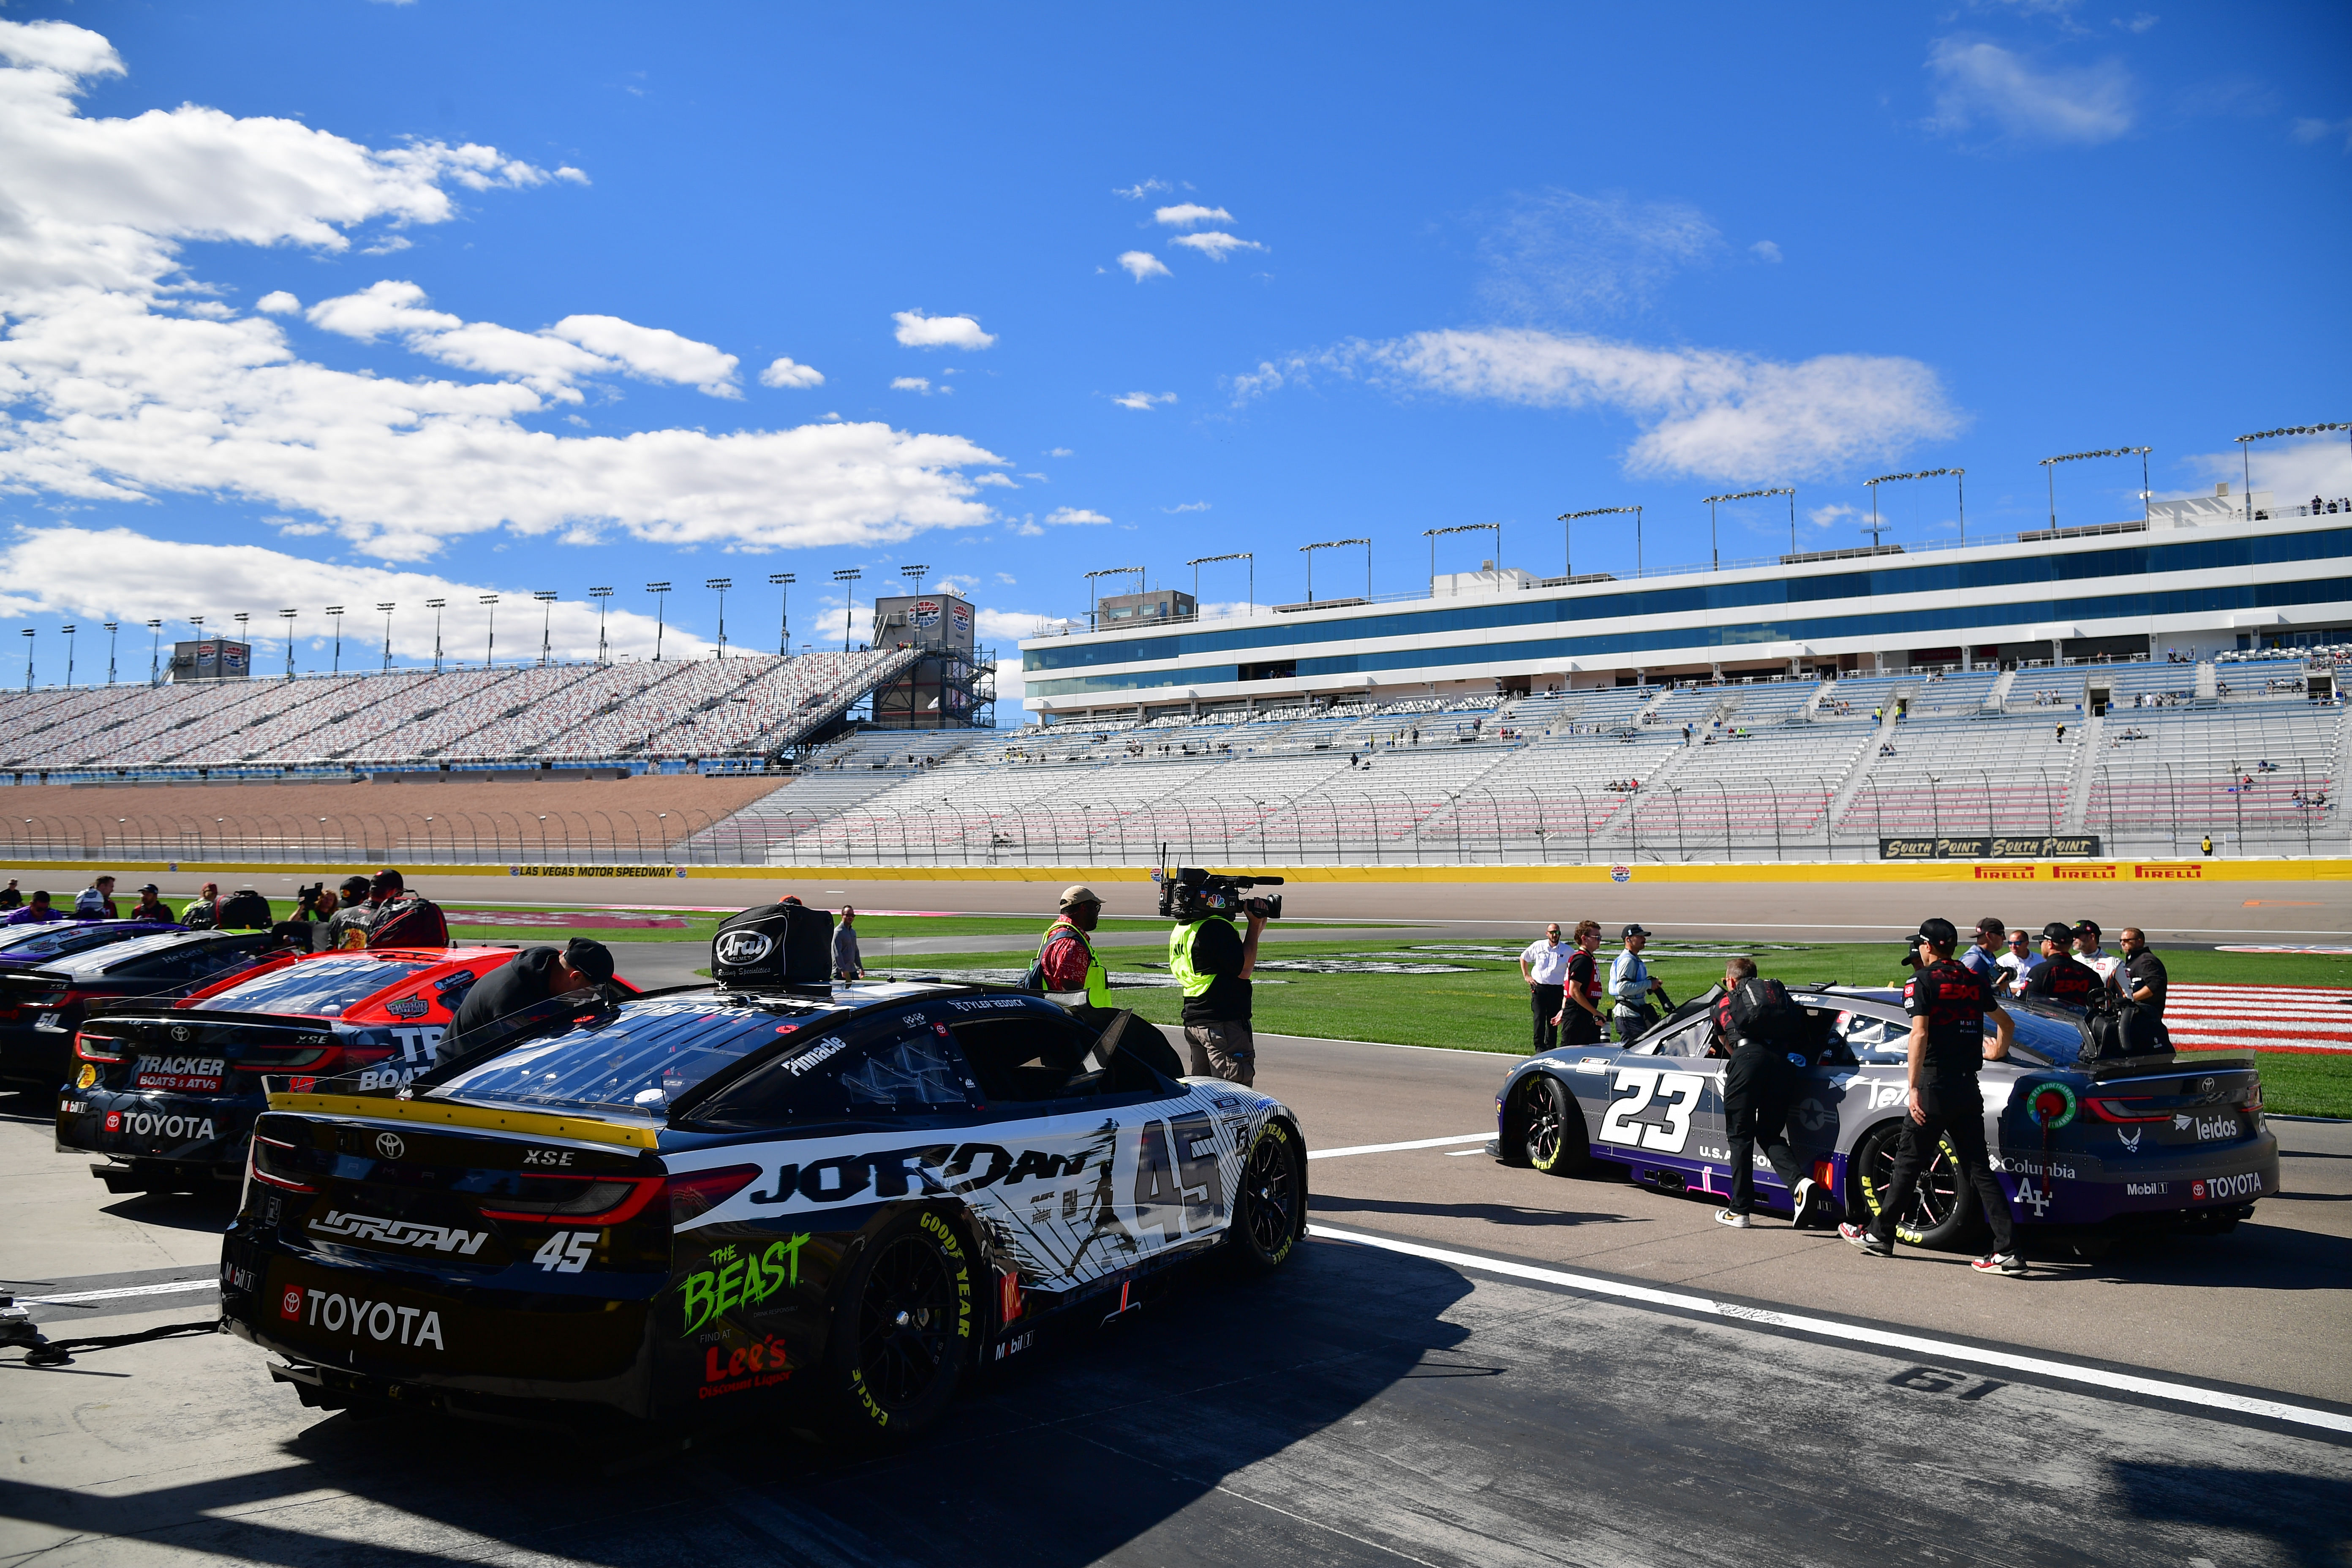
[[[282,529],[301,534],[303,524]],[[459,583],[423,571],[388,571],[379,567],[341,567],[313,562],[266,545],[212,545],[151,538],[136,529],[16,529],[0,548],[0,581],[14,592],[0,597],[7,614],[56,614],[113,618],[122,623],[205,616],[221,625],[230,611],[252,609],[254,623],[275,621],[285,604],[397,604],[393,611],[393,654],[402,658],[433,656],[433,614],[426,599],[449,599],[442,637],[452,649],[480,649],[487,611],[480,595],[496,592],[527,621],[539,621],[532,583]],[[325,616],[308,609],[296,637],[313,642]],[[548,616],[557,658],[595,658],[597,614],[588,599],[557,599]],[[372,632],[367,628],[374,628]],[[614,609],[607,623],[616,651],[654,651],[654,616]],[[353,609],[343,623],[346,665],[358,668],[348,646],[376,637],[383,618],[372,609]],[[513,644],[510,644],[513,646]],[[529,628],[529,646],[539,649],[539,628]],[[673,621],[661,646],[663,656],[708,651],[699,637],[680,632]]]

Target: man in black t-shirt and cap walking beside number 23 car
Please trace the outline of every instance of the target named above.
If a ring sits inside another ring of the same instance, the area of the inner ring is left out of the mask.
[[[1938,1140],[1950,1140],[1959,1175],[1976,1187],[1978,1208],[1992,1227],[1992,1251],[1969,1267],[1978,1274],[2023,1274],[2016,1229],[2009,1222],[2009,1197],[1992,1175],[1985,1152],[1985,1095],[1976,1072],[1987,1060],[2009,1056],[2016,1025],[1992,994],[1992,980],[1966,964],[1952,961],[1959,931],[1947,919],[1919,922],[1919,945],[1926,964],[1903,987],[1903,1011],[1910,1013],[1910,1114],[1903,1121],[1903,1145],[1896,1150],[1893,1180],[1886,1201],[1870,1225],[1839,1225],[1837,1234],[1870,1253],[1893,1258],[1896,1215],[1910,1208],[1919,1171],[1936,1154]],[[2089,971],[2086,971],[2089,973]],[[1994,1039],[1985,1044],[1985,1020]]]

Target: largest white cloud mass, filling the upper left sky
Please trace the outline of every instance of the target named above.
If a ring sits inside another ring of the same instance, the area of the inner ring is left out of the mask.
[[[567,317],[569,341],[463,322],[395,280],[313,313],[480,381],[329,369],[301,360],[278,320],[174,313],[202,292],[181,273],[188,240],[348,254],[386,226],[449,221],[452,188],[555,176],[487,146],[376,150],[193,103],[85,118],[75,96],[122,61],[66,24],[0,21],[0,491],[235,498],[303,512],[381,559],[496,529],[797,548],[990,520],[962,470],[1002,458],[953,435],[830,423],[593,437],[524,423],[576,402],[586,374],[729,388],[729,355],[616,317]]]

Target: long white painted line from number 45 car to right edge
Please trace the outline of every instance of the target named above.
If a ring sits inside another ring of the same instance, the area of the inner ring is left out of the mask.
[[[1837,1319],[1811,1316],[1804,1312],[1743,1307],[1738,1302],[1719,1302],[1708,1295],[1691,1295],[1689,1291],[1661,1291],[1658,1286],[1637,1286],[1623,1279],[1604,1279],[1599,1274],[1576,1274],[1571,1269],[1550,1269],[1534,1262],[1479,1258],[1477,1253],[1456,1253],[1444,1246],[1423,1246],[1421,1241],[1395,1241],[1390,1237],[1367,1237],[1362,1232],[1334,1229],[1329,1225],[1308,1225],[1308,1234],[1322,1237],[1324,1241],[1352,1241],[1357,1246],[1378,1246],[1390,1253],[1404,1253],[1406,1258],[1428,1258],[1430,1262],[1444,1262],[1456,1269],[1482,1269],[1486,1274],[1503,1274],[1505,1279],[1534,1279],[1541,1284],[1569,1286],[1573,1291],[1590,1291],[1592,1295],[1613,1295],[1618,1300],[1644,1302],[1651,1307],[1705,1312],[1708,1316],[1722,1316],[1736,1324],[1795,1328],[1799,1333],[1820,1335],[1825,1340],[1846,1340],[1851,1345],[1870,1345],[1875,1349],[1900,1349],[1905,1354],[1931,1356],[1936,1361],[1997,1366],[2013,1373],[2032,1373],[2037,1378],[2053,1378],[2058,1382],[2079,1382],[2093,1389],[2105,1389],[2117,1394],[2145,1394],[2150,1399],[2171,1399],[2176,1403],[2204,1406],[2209,1410],[2227,1410],[2230,1415],[2260,1415],[2265,1420],[2291,1422],[2298,1427],[2319,1427],[2321,1432],[2352,1434],[2352,1415],[2338,1415],[2333,1410],[2314,1410],[2310,1406],[2291,1406],[2279,1399],[2225,1394],[2220,1389],[2201,1389],[2192,1382],[2171,1382],[2166,1378],[2147,1378],[2143,1373],[2117,1373],[2103,1366],[2074,1366],[2070,1361],[2053,1361],[2049,1356],[2027,1356],[2013,1349],[1987,1349],[1983,1345],[1962,1345],[1957,1340],[1933,1340],[1922,1333],[1863,1328],[1858,1324],[1839,1324]]]

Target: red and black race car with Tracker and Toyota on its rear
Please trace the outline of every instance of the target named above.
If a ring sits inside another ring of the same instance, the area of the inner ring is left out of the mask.
[[[473,983],[520,947],[365,947],[285,957],[174,1004],[129,1006],[73,1037],[56,1147],[106,1159],[108,1192],[235,1192],[261,1074],[360,1074],[393,1088],[433,1065]],[[612,978],[614,997],[637,994]]]

